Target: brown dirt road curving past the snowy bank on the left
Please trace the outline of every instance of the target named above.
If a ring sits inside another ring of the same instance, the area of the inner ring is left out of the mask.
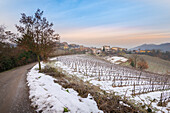
[[[26,73],[35,63],[0,73],[0,113],[33,113]]]

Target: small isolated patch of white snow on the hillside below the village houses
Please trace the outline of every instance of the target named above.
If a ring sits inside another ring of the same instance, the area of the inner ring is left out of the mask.
[[[113,63],[113,64],[120,64],[122,62],[126,62],[128,59],[125,57],[119,57],[119,56],[112,56],[112,57],[104,57],[107,61]]]

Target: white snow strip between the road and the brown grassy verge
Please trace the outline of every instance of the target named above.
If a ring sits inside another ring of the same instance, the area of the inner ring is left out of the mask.
[[[39,73],[37,69],[38,65],[35,65],[27,77],[29,98],[37,112],[63,113],[68,110],[70,113],[102,113],[90,94],[81,98],[75,90],[62,88],[54,83],[55,78]]]

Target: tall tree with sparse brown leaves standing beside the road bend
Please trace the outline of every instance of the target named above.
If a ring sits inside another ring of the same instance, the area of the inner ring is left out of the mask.
[[[40,9],[37,9],[34,16],[22,13],[19,22],[23,25],[16,25],[21,37],[15,40],[19,47],[37,55],[39,70],[41,70],[40,57],[47,60],[55,46],[55,41],[59,40],[52,29],[53,23],[49,23],[42,15],[43,11]]]

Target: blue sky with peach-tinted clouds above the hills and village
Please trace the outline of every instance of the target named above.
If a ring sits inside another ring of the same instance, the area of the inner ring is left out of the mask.
[[[61,41],[131,48],[170,42],[170,0],[0,0],[0,25],[16,32],[40,8]]]

